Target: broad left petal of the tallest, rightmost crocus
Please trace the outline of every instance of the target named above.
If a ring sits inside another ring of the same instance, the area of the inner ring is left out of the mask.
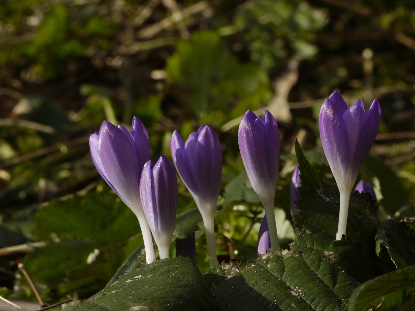
[[[349,166],[349,142],[343,116],[331,100],[323,102],[318,123],[323,150],[334,178],[337,184],[343,183]]]

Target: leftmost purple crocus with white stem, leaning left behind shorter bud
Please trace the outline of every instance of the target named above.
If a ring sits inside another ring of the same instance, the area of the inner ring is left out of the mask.
[[[140,223],[147,263],[153,262],[154,248],[149,224],[140,201],[140,175],[150,159],[150,142],[146,128],[134,117],[132,134],[122,125],[104,121],[99,133],[89,138],[91,158],[105,182],[134,212]]]

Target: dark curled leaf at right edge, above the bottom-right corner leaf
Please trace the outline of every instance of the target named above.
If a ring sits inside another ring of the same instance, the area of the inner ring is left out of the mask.
[[[382,246],[388,250],[397,269],[415,265],[415,232],[405,221],[386,219],[376,233],[376,254],[380,256]]]

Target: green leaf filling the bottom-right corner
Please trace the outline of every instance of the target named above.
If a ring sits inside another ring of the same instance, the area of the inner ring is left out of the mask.
[[[350,296],[348,311],[389,309],[403,302],[406,293],[415,291],[415,266],[371,279]]]

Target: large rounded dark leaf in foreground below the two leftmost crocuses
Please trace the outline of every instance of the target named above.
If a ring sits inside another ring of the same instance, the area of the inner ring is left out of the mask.
[[[176,257],[127,272],[72,310],[214,311],[217,306],[199,268]]]

